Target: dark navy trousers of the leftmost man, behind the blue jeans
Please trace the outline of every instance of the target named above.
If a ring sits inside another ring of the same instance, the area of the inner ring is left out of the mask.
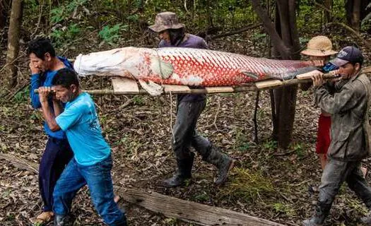
[[[49,137],[39,167],[39,188],[44,203],[43,211],[53,210],[54,186],[72,156],[67,139]]]

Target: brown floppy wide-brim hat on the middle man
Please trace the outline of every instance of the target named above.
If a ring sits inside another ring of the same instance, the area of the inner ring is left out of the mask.
[[[178,22],[177,14],[172,12],[163,12],[156,15],[155,24],[148,28],[154,32],[162,32],[167,29],[184,28],[184,24]]]

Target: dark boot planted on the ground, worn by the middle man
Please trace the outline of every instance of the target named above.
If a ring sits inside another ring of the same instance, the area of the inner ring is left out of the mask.
[[[176,187],[182,186],[188,179],[191,179],[192,176],[192,165],[194,160],[194,153],[191,153],[191,157],[185,160],[178,160],[177,159],[177,172],[170,177],[169,179],[165,179],[163,181],[163,186],[166,187]]]

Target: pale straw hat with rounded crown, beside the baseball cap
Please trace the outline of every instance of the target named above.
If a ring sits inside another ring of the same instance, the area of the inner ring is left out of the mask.
[[[312,57],[326,57],[336,54],[337,51],[332,50],[332,43],[326,36],[316,36],[307,44],[307,49],[303,50],[301,54]]]

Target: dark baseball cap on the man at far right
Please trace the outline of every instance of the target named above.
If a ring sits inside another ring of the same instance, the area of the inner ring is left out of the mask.
[[[338,55],[335,59],[330,61],[331,64],[335,64],[336,66],[343,66],[344,64],[348,63],[363,63],[363,55],[360,52],[360,49],[357,47],[344,47],[343,49],[338,52]]]

